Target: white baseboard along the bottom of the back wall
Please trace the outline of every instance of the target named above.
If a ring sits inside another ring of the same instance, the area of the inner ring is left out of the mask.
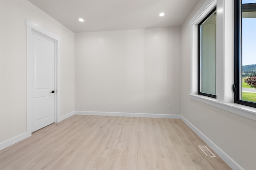
[[[154,113],[124,113],[124,112],[103,112],[103,111],[75,111],[75,115],[97,115],[97,116],[121,116],[121,117],[149,117],[180,119],[180,115],[154,114]]]

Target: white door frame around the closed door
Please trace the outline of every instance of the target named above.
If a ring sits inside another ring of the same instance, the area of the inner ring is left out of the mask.
[[[54,122],[60,121],[60,37],[50,31],[26,20],[27,26],[27,137],[32,135],[32,100],[34,83],[34,55],[32,53],[32,32],[36,32],[54,41],[54,79],[55,79],[55,100],[54,100]]]

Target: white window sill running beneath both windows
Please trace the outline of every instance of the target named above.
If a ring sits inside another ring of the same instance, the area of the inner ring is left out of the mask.
[[[197,94],[190,94],[190,98],[256,121],[256,108],[254,107],[235,103],[221,103],[214,98]]]

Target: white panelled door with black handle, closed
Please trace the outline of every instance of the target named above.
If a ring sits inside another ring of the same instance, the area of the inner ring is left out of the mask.
[[[32,132],[55,120],[54,41],[32,31],[34,63]]]

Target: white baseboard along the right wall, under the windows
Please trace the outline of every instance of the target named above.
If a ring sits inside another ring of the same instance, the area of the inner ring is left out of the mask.
[[[192,123],[190,123],[190,121],[188,121],[182,115],[180,115],[180,117],[182,121],[184,121],[184,123],[186,123],[186,125],[188,125],[188,127],[190,127],[190,129],[192,129],[194,133],[196,133],[196,135],[198,135],[212,150],[214,150],[214,152],[216,152],[216,154],[218,154],[218,156],[220,156],[220,158],[222,158],[222,160],[224,160],[224,162],[226,162],[226,164],[228,164],[228,166],[230,166],[230,168],[232,168],[233,170],[244,170],[242,166],[236,163],[236,161],[234,161],[230,156],[228,156],[228,154],[226,154],[208,137],[206,137],[206,135],[204,135],[199,129],[197,129]]]

